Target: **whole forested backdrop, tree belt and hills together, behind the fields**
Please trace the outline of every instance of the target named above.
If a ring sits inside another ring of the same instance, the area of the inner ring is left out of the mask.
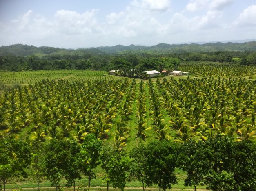
[[[256,42],[209,43],[207,46],[187,45],[196,48],[199,46],[212,47],[199,52],[190,48],[175,49],[174,51],[168,48],[169,46],[165,44],[152,46],[154,51],[148,49],[134,51],[121,46],[123,47],[122,52],[118,52],[119,49],[115,52],[110,51],[116,46],[105,47],[105,49],[98,47],[77,50],[53,47],[37,48],[21,44],[2,46],[0,47],[0,70],[96,69],[109,71],[111,69],[139,69],[145,71],[156,69],[162,71],[163,69],[177,69],[179,63],[189,61],[256,65]],[[179,46],[175,45],[175,47]],[[180,45],[179,48],[182,47]],[[226,48],[223,49],[223,47]]]

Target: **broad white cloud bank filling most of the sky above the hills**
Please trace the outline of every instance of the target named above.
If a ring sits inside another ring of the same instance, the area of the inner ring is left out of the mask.
[[[256,5],[246,6],[232,25],[226,16],[234,15],[225,13],[229,10],[224,8],[234,0],[187,2],[187,6],[183,2],[175,9],[171,0],[130,0],[125,9],[105,15],[98,9],[83,13],[58,10],[47,18],[29,10],[9,22],[0,22],[0,42],[74,48],[255,37],[256,27],[245,32],[239,26],[256,26]],[[98,19],[102,16],[103,20]]]

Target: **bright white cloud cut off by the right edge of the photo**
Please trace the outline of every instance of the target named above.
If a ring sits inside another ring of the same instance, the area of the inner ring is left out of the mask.
[[[247,7],[234,24],[240,26],[256,26],[256,5]]]

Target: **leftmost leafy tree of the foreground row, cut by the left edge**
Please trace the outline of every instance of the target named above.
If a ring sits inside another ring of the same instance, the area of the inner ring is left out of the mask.
[[[27,176],[24,168],[29,165],[29,162],[29,145],[22,140],[0,139],[0,180],[3,182],[4,191],[7,180],[14,174]]]

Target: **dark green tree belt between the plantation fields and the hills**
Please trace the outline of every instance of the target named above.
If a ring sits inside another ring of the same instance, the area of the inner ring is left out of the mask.
[[[141,69],[159,70],[178,69],[181,61],[226,62],[240,65],[256,65],[256,52],[180,52],[148,53],[122,52],[119,54],[47,54],[38,56],[0,55],[0,70],[58,70],[58,69]]]

